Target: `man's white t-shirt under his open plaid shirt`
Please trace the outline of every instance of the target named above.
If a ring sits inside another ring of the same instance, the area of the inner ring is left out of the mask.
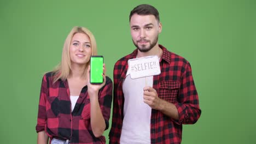
[[[153,76],[123,81],[124,120],[120,143],[150,143],[151,107],[143,101],[143,88],[153,87]]]

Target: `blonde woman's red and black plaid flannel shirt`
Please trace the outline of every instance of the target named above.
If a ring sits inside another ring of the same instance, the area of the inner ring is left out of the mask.
[[[108,129],[112,103],[112,80],[106,77],[106,85],[98,93],[102,115]],[[66,81],[53,83],[52,73],[42,80],[36,130],[45,131],[50,139],[70,140],[70,143],[105,143],[105,137],[95,137],[90,125],[90,98],[87,86],[83,87],[73,112]]]

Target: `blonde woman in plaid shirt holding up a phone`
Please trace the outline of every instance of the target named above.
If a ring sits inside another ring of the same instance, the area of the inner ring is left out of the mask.
[[[90,83],[90,57],[97,55],[94,35],[74,27],[61,63],[43,76],[36,130],[37,143],[105,143],[112,102],[112,81],[103,64],[103,83]]]

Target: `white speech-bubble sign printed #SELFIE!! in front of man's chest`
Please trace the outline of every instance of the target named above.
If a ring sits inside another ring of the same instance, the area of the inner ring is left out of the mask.
[[[131,79],[159,75],[161,73],[158,56],[147,56],[128,60],[129,68],[126,75]]]

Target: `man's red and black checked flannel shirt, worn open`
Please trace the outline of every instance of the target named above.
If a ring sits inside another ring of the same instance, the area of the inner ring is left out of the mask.
[[[153,88],[158,97],[173,103],[179,113],[178,121],[152,109],[150,119],[151,143],[181,143],[182,124],[194,124],[201,115],[199,99],[194,85],[191,67],[183,57],[159,45],[161,74],[153,77]],[[128,59],[136,58],[137,50],[121,59],[114,66],[114,101],[112,128],[109,143],[119,143],[124,118],[123,80],[128,69]],[[132,91],[132,89],[131,89]]]

